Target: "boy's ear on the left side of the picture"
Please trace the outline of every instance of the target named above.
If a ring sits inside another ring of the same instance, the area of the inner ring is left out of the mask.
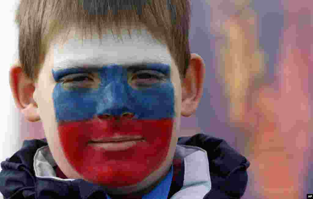
[[[9,72],[10,87],[15,105],[30,122],[40,120],[38,105],[33,99],[34,83],[23,72],[19,64],[14,64]]]

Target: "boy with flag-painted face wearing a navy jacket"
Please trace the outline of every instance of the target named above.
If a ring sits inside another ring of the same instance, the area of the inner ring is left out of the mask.
[[[46,138],[1,163],[3,196],[240,198],[246,158],[204,134],[177,139],[203,90],[189,18],[187,0],[22,0],[10,86]]]

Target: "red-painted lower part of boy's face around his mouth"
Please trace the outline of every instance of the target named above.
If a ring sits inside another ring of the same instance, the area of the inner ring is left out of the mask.
[[[172,139],[173,119],[88,120],[59,124],[64,154],[85,180],[107,187],[131,186],[165,161]],[[92,138],[141,136],[141,140],[92,143]]]

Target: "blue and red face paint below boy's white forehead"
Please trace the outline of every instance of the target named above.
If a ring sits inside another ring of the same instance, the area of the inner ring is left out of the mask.
[[[96,75],[88,76],[91,72]],[[175,117],[168,64],[128,68],[115,64],[53,69],[52,73],[58,82],[53,101],[60,143],[69,163],[86,180],[108,187],[130,186],[161,166]],[[68,82],[73,78],[94,82]],[[120,118],[123,113],[134,116]],[[113,117],[105,118],[106,114]],[[139,135],[144,141],[123,151],[89,145],[91,140],[117,135]]]

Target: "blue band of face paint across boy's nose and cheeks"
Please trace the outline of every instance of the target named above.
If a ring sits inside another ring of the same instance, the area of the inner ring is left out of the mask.
[[[130,85],[130,77],[139,70],[155,71],[164,78],[150,86],[133,88]],[[70,83],[69,89],[64,89],[61,83],[55,86],[53,99],[57,122],[89,120],[95,115],[121,115],[124,112],[134,113],[134,119],[174,117],[174,88],[169,65],[146,64],[129,68],[110,65],[97,69],[73,68],[52,71],[57,82],[69,74],[88,72],[97,72],[99,75],[100,84],[97,89],[77,88]]]

